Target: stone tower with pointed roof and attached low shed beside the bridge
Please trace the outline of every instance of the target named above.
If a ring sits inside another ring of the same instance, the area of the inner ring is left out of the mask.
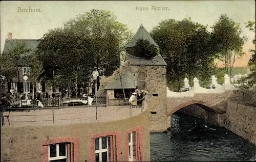
[[[138,39],[148,40],[157,48],[158,55],[150,60],[134,56],[134,47]],[[166,103],[166,62],[159,53],[159,46],[141,24],[132,41],[125,47],[125,62],[112,76],[101,80],[98,94],[108,95],[115,99],[114,91],[122,87],[127,90],[135,89],[148,91],[148,110],[150,110],[150,130],[152,132],[167,130]],[[120,79],[120,74],[122,78]],[[122,82],[122,84],[121,84]],[[122,87],[121,87],[122,85]],[[129,98],[130,96],[126,96]],[[110,101],[111,102],[111,101]]]

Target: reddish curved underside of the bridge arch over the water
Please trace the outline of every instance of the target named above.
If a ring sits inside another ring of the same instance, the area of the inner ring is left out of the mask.
[[[189,105],[192,105],[192,104],[196,104],[198,106],[200,106],[202,109],[204,109],[205,111],[208,111],[208,112],[215,112],[217,114],[223,114],[225,113],[224,111],[222,111],[221,109],[219,109],[218,107],[211,107],[209,106],[207,103],[205,102],[202,102],[202,101],[198,101],[198,100],[191,100],[191,101],[188,101],[188,102],[185,102],[185,103],[182,103],[178,106],[176,106],[171,112],[169,112],[167,114],[167,116],[171,116],[173,115],[175,112],[181,110],[183,107],[186,107],[186,106],[189,106]]]

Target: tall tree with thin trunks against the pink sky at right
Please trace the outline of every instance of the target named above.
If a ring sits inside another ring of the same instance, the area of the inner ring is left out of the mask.
[[[232,18],[222,14],[219,21],[212,27],[212,45],[217,53],[217,58],[224,60],[225,72],[231,76],[232,67],[236,57],[241,57],[245,53],[242,51],[246,37],[241,36],[242,30],[240,23],[235,22]]]

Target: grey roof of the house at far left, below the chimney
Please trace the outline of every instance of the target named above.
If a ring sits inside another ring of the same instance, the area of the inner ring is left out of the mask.
[[[16,42],[19,42],[19,43],[25,42],[27,45],[27,48],[30,48],[31,50],[36,49],[37,45],[39,44],[38,39],[12,39],[12,40],[6,39],[3,52],[8,52],[9,50],[12,50]]]

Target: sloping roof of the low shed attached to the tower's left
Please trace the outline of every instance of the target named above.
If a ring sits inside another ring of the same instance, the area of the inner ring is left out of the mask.
[[[135,88],[135,85],[137,85],[137,76],[134,76],[129,69],[125,69],[122,75],[122,85],[124,89]],[[104,89],[122,89],[120,77],[108,84]]]

